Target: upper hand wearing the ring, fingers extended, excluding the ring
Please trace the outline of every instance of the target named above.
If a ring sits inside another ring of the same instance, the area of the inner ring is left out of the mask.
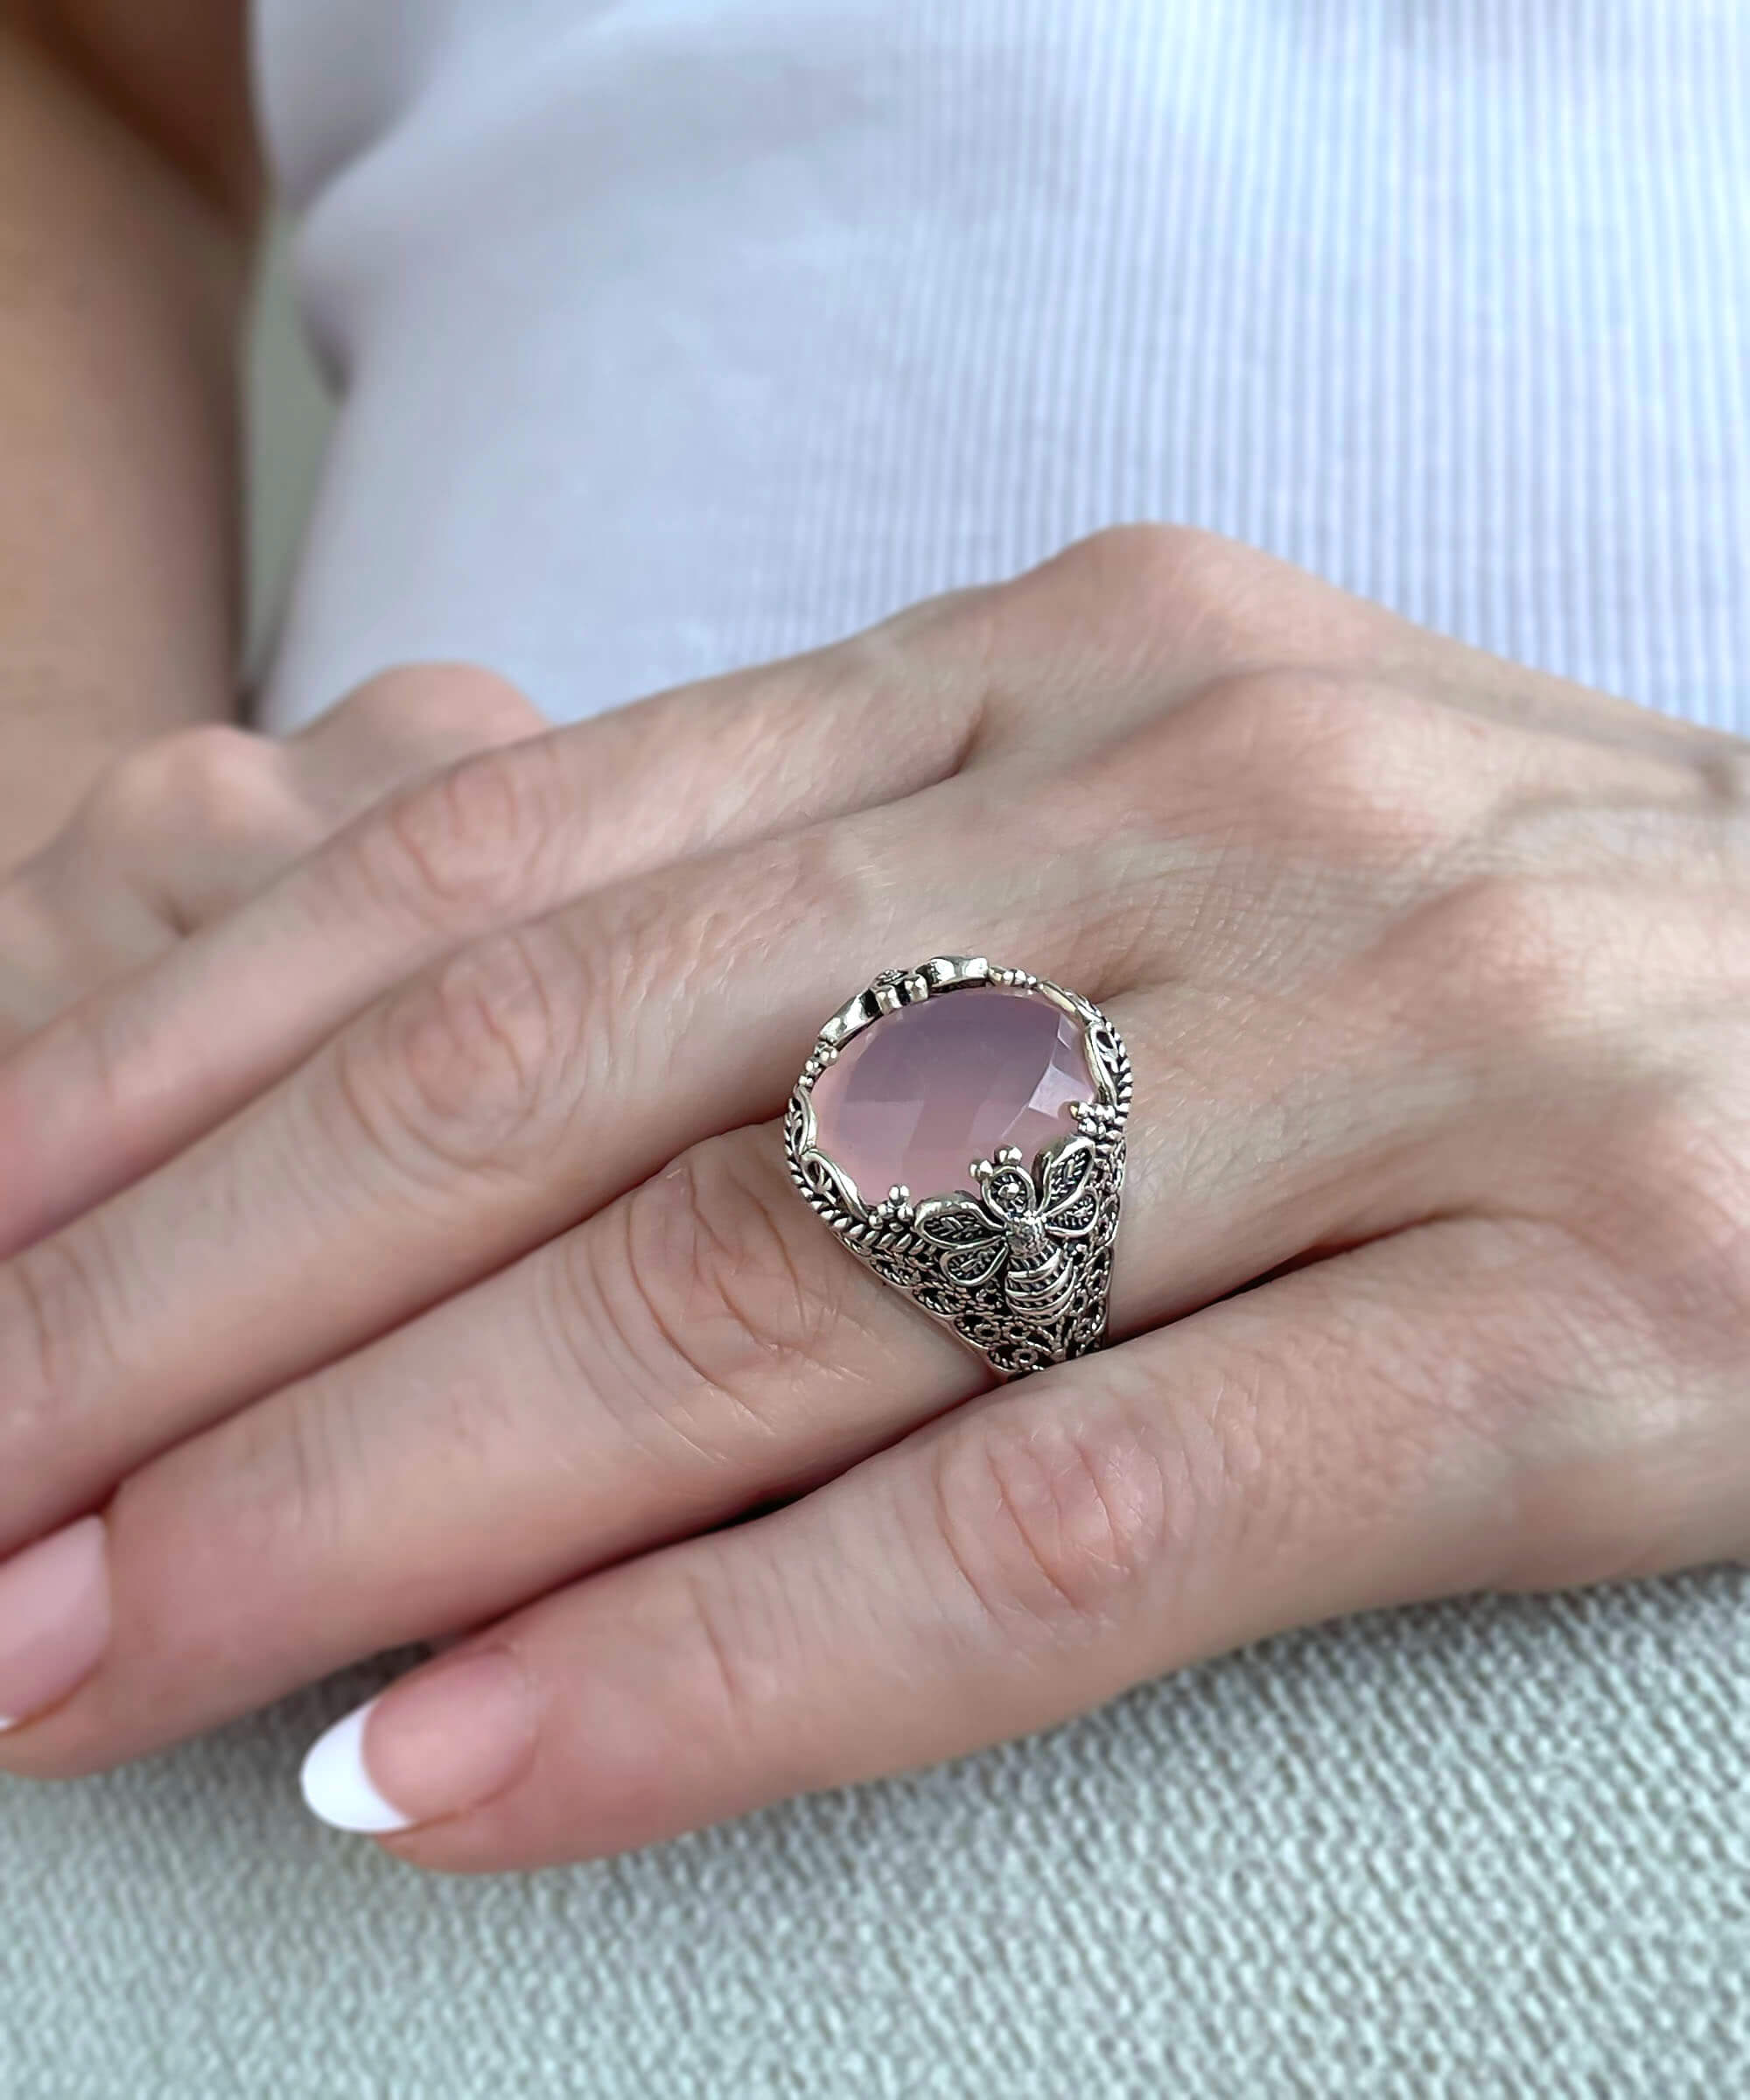
[[[6,1764],[485,1625],[330,1766],[527,1867],[1742,1554],[1744,779],[1143,529],[414,790],[0,1071],[15,1245],[162,1159],[0,1266],[0,1535],[103,1512],[0,1569]],[[761,1121],[933,951],[1137,1065],[1120,1346],[998,1392]]]

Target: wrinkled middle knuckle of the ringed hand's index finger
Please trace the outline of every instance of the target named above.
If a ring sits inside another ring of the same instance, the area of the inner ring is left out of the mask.
[[[349,872],[374,905],[441,934],[540,909],[563,815],[557,766],[546,739],[460,760],[361,825]]]

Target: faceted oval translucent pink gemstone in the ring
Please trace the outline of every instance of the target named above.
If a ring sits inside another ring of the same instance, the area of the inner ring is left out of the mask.
[[[973,1189],[973,1161],[1002,1144],[1034,1153],[1092,1100],[1082,1025],[1050,1000],[975,985],[872,1021],[815,1079],[819,1149],[878,1203]]]

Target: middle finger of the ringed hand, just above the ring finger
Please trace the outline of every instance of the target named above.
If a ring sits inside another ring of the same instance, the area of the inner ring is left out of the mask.
[[[775,1113],[794,1044],[889,956],[1006,924],[1029,966],[1080,947],[1099,979],[1109,857],[1019,895],[994,855],[941,846],[989,836],[987,792],[960,779],[492,934],[0,1264],[0,1550]]]

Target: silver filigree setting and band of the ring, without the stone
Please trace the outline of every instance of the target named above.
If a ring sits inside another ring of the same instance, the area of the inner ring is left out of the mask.
[[[884,1014],[973,985],[1046,1000],[1078,1021],[1095,1098],[1071,1102],[1074,1130],[1032,1161],[1006,1149],[968,1161],[964,1189],[914,1197],[895,1186],[872,1203],[819,1149],[815,1079]],[[790,1096],[784,1147],[803,1199],[857,1260],[952,1327],[1002,1378],[1023,1378],[1105,1342],[1128,1115],[1130,1056],[1097,1006],[983,956],[931,956],[910,970],[882,970],[826,1023]]]

